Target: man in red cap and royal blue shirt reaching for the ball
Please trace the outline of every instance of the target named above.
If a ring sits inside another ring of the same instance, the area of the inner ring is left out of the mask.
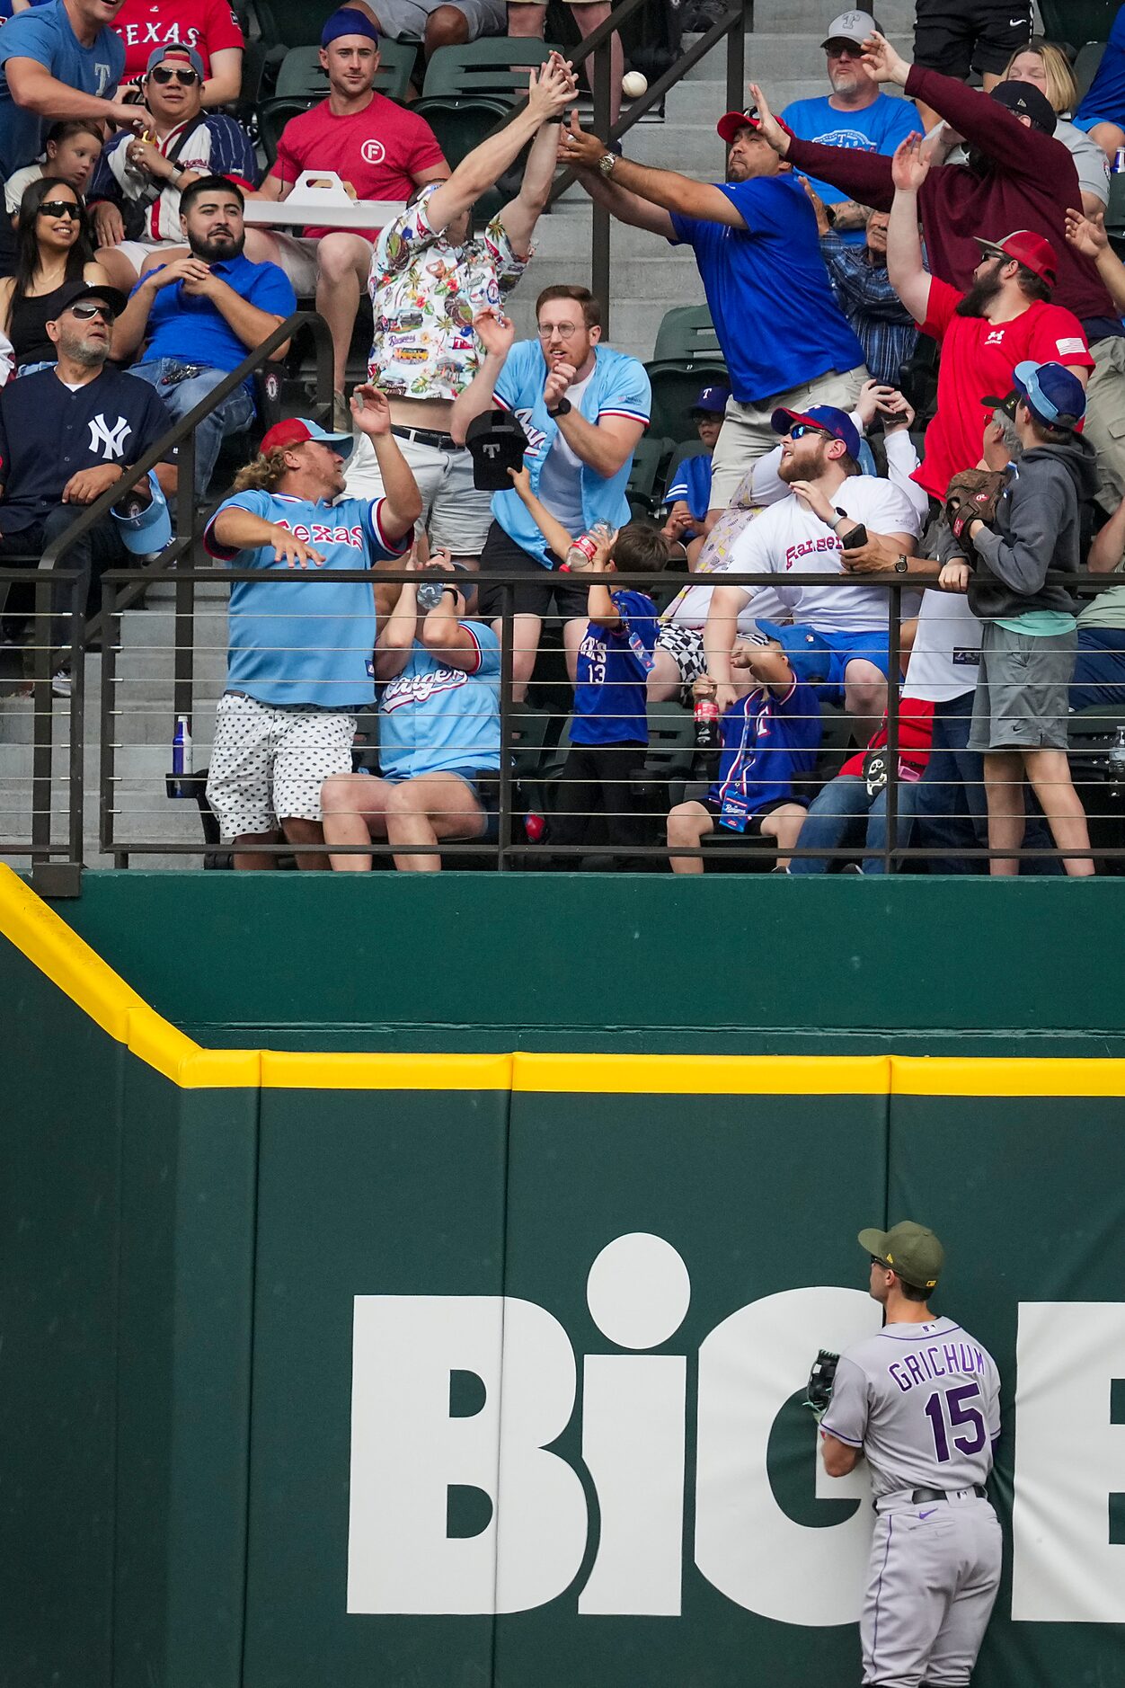
[[[619,221],[695,252],[730,375],[712,459],[712,515],[774,449],[778,408],[850,410],[867,380],[864,348],[832,292],[799,179],[759,132],[757,111],[727,111],[719,133],[730,147],[727,182],[719,186],[621,159],[585,135],[577,116],[562,147],[587,192]]]

